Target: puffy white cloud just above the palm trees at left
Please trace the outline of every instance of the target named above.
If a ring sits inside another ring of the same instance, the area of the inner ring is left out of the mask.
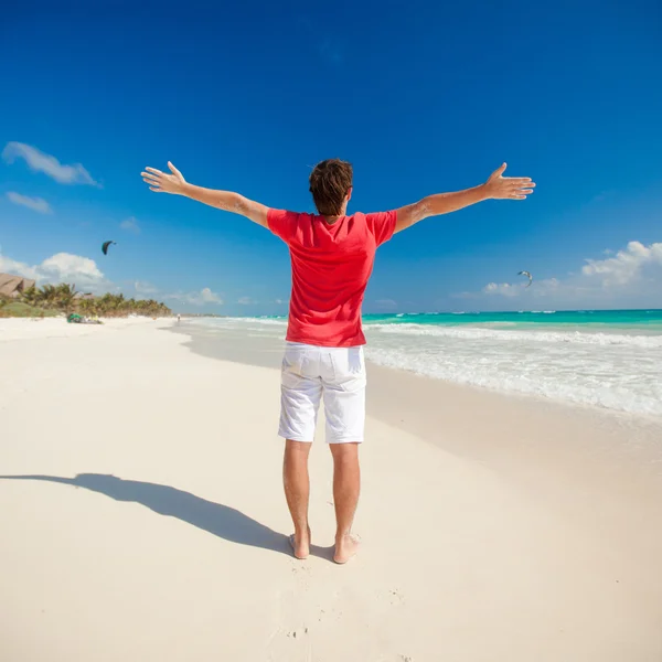
[[[47,282],[68,282],[75,285],[78,290],[95,293],[105,292],[114,287],[93,259],[71,253],[57,253],[34,266],[0,254],[0,271],[33,278],[39,286]]]

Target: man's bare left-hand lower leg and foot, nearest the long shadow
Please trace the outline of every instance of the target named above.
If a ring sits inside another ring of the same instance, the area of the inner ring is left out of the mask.
[[[285,442],[282,459],[282,484],[285,498],[295,523],[293,552],[297,558],[307,558],[310,552],[310,527],[308,526],[308,456],[312,444],[307,441]]]

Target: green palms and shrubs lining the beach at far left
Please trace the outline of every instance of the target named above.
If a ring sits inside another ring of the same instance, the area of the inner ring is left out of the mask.
[[[75,285],[44,285],[31,287],[21,297],[0,296],[0,317],[55,317],[57,314],[96,314],[100,317],[167,317],[172,311],[164,303],[149,300],[125,299],[124,295],[106,293],[102,297],[78,297]]]

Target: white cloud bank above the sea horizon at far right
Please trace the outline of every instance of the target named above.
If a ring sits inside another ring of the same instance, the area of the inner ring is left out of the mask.
[[[489,282],[480,292],[462,292],[458,298],[503,297],[520,299],[520,306],[536,300],[554,307],[651,307],[662,306],[662,243],[649,246],[630,242],[613,253],[605,250],[604,259],[586,259],[578,273],[566,278],[526,282]]]

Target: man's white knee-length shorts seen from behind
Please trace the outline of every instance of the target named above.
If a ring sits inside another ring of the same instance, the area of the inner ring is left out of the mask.
[[[282,359],[280,393],[280,437],[312,441],[323,397],[327,442],[363,441],[363,348],[321,348],[288,342]]]

